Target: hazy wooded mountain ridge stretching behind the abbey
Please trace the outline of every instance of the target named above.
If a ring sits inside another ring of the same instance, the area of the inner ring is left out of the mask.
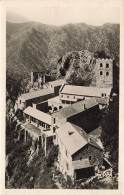
[[[91,53],[104,50],[119,63],[119,35],[119,24],[51,26],[7,22],[7,72],[29,75],[32,70],[52,70],[68,52],[81,50]]]

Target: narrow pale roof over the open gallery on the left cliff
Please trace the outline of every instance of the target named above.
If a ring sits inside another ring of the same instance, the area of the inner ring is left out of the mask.
[[[51,115],[49,114],[46,114],[30,106],[28,106],[23,112],[29,116],[34,117],[35,119],[38,119],[39,121],[43,121],[44,123],[51,125]]]

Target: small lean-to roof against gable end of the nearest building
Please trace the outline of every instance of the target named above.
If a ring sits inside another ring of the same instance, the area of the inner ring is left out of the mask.
[[[74,170],[91,167],[89,159],[72,161],[72,166],[73,166]]]

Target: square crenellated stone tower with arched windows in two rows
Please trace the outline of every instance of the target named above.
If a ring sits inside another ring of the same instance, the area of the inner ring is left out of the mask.
[[[96,59],[96,86],[113,88],[113,60]]]

